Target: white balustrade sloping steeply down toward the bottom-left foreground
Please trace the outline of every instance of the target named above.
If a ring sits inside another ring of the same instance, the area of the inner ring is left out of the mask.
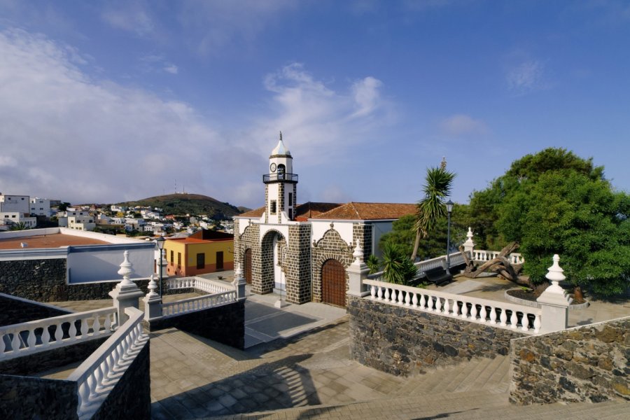
[[[148,340],[142,332],[144,312],[129,307],[125,314],[129,316],[127,322],[68,377],[77,382],[79,419],[89,419],[97,411]]]

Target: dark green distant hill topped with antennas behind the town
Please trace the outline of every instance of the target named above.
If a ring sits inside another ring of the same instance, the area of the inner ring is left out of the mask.
[[[207,214],[215,220],[227,219],[242,213],[238,207],[230,203],[220,202],[207,195],[200,194],[167,194],[149,197],[142,200],[118,203],[126,207],[160,207],[162,214],[183,216],[186,214]]]

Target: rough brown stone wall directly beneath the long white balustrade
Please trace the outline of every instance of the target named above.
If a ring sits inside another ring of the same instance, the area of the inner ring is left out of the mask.
[[[519,331],[349,296],[351,358],[391,374],[507,355]]]

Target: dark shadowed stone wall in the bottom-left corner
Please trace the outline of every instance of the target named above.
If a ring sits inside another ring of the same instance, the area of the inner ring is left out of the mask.
[[[78,419],[76,382],[0,374],[2,419]]]

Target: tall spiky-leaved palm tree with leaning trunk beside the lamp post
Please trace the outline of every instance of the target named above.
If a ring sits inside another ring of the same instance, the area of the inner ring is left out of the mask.
[[[435,231],[435,226],[440,218],[447,214],[444,198],[451,195],[451,184],[456,174],[446,170],[446,162],[440,167],[428,168],[422,191],[424,197],[416,204],[416,241],[411,260],[416,260],[420,238],[426,237]]]

